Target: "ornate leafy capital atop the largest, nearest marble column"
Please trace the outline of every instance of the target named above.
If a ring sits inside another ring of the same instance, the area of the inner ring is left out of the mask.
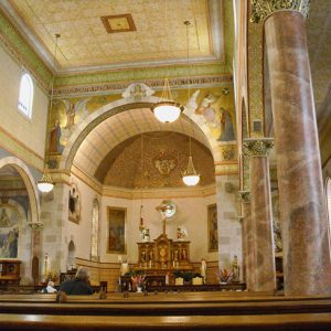
[[[295,10],[308,17],[310,0],[252,0],[250,22],[259,23],[278,10]]]

